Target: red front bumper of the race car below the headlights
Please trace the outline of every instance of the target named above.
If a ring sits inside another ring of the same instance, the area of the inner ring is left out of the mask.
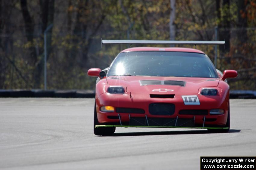
[[[184,95],[184,94],[182,94]],[[170,126],[170,127],[223,127],[226,125],[228,117],[228,96],[202,96],[196,94],[200,100],[200,105],[184,105],[181,95],[175,94],[174,98],[150,98],[149,94],[101,94],[96,99],[96,111],[98,122],[102,125],[127,125],[127,126]],[[171,103],[175,105],[172,115],[152,115],[149,112],[151,103]],[[145,110],[145,113],[112,113],[101,112],[101,106],[113,106],[123,108],[138,108]],[[222,115],[210,115],[211,109],[223,109]],[[186,115],[180,114],[180,110],[207,110],[207,115]],[[131,119],[136,119],[144,124],[131,123]],[[148,120],[147,120],[148,119]],[[166,119],[166,120],[163,120]],[[175,125],[178,122],[185,124]],[[157,120],[157,121],[156,121]],[[155,122],[155,123],[154,123]],[[171,123],[167,123],[171,122]],[[186,123],[188,122],[188,123]],[[167,124],[166,124],[167,123]]]

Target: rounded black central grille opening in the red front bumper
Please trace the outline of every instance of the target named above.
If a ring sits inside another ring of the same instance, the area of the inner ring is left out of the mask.
[[[151,115],[173,115],[175,105],[171,103],[151,103],[148,106]]]

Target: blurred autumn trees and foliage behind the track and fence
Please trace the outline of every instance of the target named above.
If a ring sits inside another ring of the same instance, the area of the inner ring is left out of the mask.
[[[238,71],[231,89],[256,90],[255,17],[256,0],[0,0],[0,89],[44,88],[44,31],[52,24],[49,89],[94,88],[87,70],[108,67],[128,47],[101,48],[101,38],[209,41],[216,27],[217,40],[226,41],[217,69]],[[197,48],[214,62],[214,45]]]

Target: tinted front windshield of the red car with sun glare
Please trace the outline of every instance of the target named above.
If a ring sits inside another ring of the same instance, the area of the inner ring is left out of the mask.
[[[211,60],[200,53],[134,51],[120,53],[107,76],[175,76],[217,78]]]

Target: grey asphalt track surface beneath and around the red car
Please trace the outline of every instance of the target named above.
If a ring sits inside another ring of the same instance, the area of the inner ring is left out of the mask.
[[[92,132],[94,99],[0,98],[0,169],[196,169],[200,156],[256,156],[256,100],[230,100],[231,130]]]

